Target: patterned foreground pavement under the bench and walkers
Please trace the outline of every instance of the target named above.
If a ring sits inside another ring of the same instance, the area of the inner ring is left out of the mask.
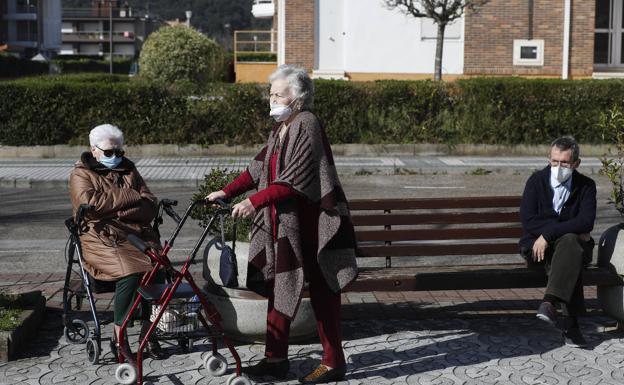
[[[114,384],[109,352],[110,295],[98,296],[104,320],[102,362],[86,362],[84,345],[68,345],[60,320],[61,274],[0,275],[0,289],[39,289],[48,299],[43,327],[23,358],[0,364],[0,384]],[[542,289],[347,293],[343,295],[343,347],[347,379],[340,384],[621,384],[624,334],[600,315],[596,293],[586,288],[589,316],[581,327],[588,349],[563,346],[558,331],[534,318]],[[88,317],[86,318],[88,319]],[[133,346],[138,334],[131,329]],[[203,367],[208,341],[189,353],[165,344],[170,356],[146,360],[145,379],[155,384],[225,384],[230,370],[212,377]],[[263,345],[236,346],[243,364],[263,356]],[[290,346],[291,372],[284,384],[319,361],[318,341]],[[257,383],[275,383],[264,379]]]

